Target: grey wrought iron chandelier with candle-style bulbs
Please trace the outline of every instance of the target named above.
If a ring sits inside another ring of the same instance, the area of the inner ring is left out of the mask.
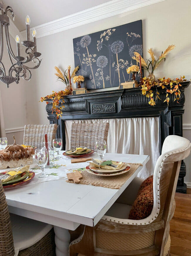
[[[11,17],[14,20],[14,12],[10,6],[4,7],[2,0],[0,0],[0,81],[6,84],[6,87],[9,88],[9,84],[16,82],[19,83],[20,77],[24,80],[31,79],[31,71],[30,69],[37,69],[40,64],[41,60],[38,59],[41,56],[41,53],[38,53],[36,50],[36,31],[33,29],[33,41],[30,40],[30,18],[26,16],[26,41],[22,42],[22,45],[26,47],[25,53],[27,54],[26,57],[22,57],[20,53],[20,39],[19,36],[16,35],[16,44],[17,44],[17,56],[14,54],[9,37],[9,17],[7,15],[8,12],[11,13]],[[11,67],[6,73],[5,66],[2,63],[2,56],[3,56],[3,27],[5,30],[5,39],[7,45],[7,51],[9,55],[9,59],[11,61]],[[26,63],[32,61],[36,65],[33,67],[26,66]]]

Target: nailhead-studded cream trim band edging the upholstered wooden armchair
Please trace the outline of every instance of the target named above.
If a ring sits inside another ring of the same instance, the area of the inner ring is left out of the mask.
[[[190,141],[187,140],[187,142],[188,142],[187,146],[186,146],[185,148],[179,150],[178,152],[182,152],[182,151],[185,151],[186,149],[189,149],[189,148],[190,148]],[[177,151],[173,151],[173,152],[171,152],[171,153],[168,153],[168,154],[166,154],[166,155],[163,157],[163,159],[161,160],[161,165],[160,165],[160,168],[159,168],[159,170],[158,170],[158,175],[157,175],[159,181],[160,181],[160,175],[161,175],[160,169],[162,168],[162,166],[163,166],[163,164],[164,164],[165,158],[166,158],[167,156],[172,155],[172,154],[175,154],[175,153],[177,153]],[[158,191],[158,193],[157,193],[157,199],[158,199],[158,201],[157,201],[157,210],[156,210],[154,213],[151,212],[150,216],[148,216],[148,217],[145,219],[145,220],[147,220],[147,221],[144,222],[144,225],[147,225],[147,224],[152,223],[153,220],[154,220],[154,218],[155,218],[155,219],[157,218],[156,214],[159,214],[159,212],[160,212],[160,183],[159,183],[159,182],[157,183],[157,191]],[[111,221],[111,222],[117,221],[118,223],[122,223],[122,224],[134,225],[134,220],[130,220],[130,219],[118,219],[118,218],[108,219],[108,218],[110,218],[110,216],[104,215],[104,216],[102,217],[103,220],[108,220],[108,221]],[[115,220],[115,221],[114,221],[114,220]],[[123,221],[123,222],[122,222],[122,221]],[[141,221],[141,220],[140,220],[140,221]],[[135,225],[142,225],[143,223],[140,222],[140,221],[138,220],[138,221],[137,221],[138,223],[135,224]]]

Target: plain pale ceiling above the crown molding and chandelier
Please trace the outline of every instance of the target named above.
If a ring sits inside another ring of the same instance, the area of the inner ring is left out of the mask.
[[[22,31],[26,29],[27,14],[31,19],[30,27],[36,27],[108,1],[110,0],[4,0],[3,2],[13,8],[14,24]]]

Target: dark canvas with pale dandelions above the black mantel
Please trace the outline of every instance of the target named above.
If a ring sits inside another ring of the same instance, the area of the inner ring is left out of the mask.
[[[131,79],[126,69],[137,64],[134,52],[143,57],[142,20],[74,38],[73,49],[76,75],[85,78],[81,87],[117,87]]]

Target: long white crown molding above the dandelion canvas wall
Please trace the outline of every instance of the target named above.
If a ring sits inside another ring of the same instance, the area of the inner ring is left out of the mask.
[[[66,17],[44,23],[34,27],[36,37],[44,37],[57,32],[88,24],[100,19],[105,19],[117,14],[132,11],[150,4],[156,4],[166,0],[112,0],[89,9],[77,12]],[[33,28],[30,29],[31,33]],[[21,31],[23,38],[26,37],[26,30]]]

